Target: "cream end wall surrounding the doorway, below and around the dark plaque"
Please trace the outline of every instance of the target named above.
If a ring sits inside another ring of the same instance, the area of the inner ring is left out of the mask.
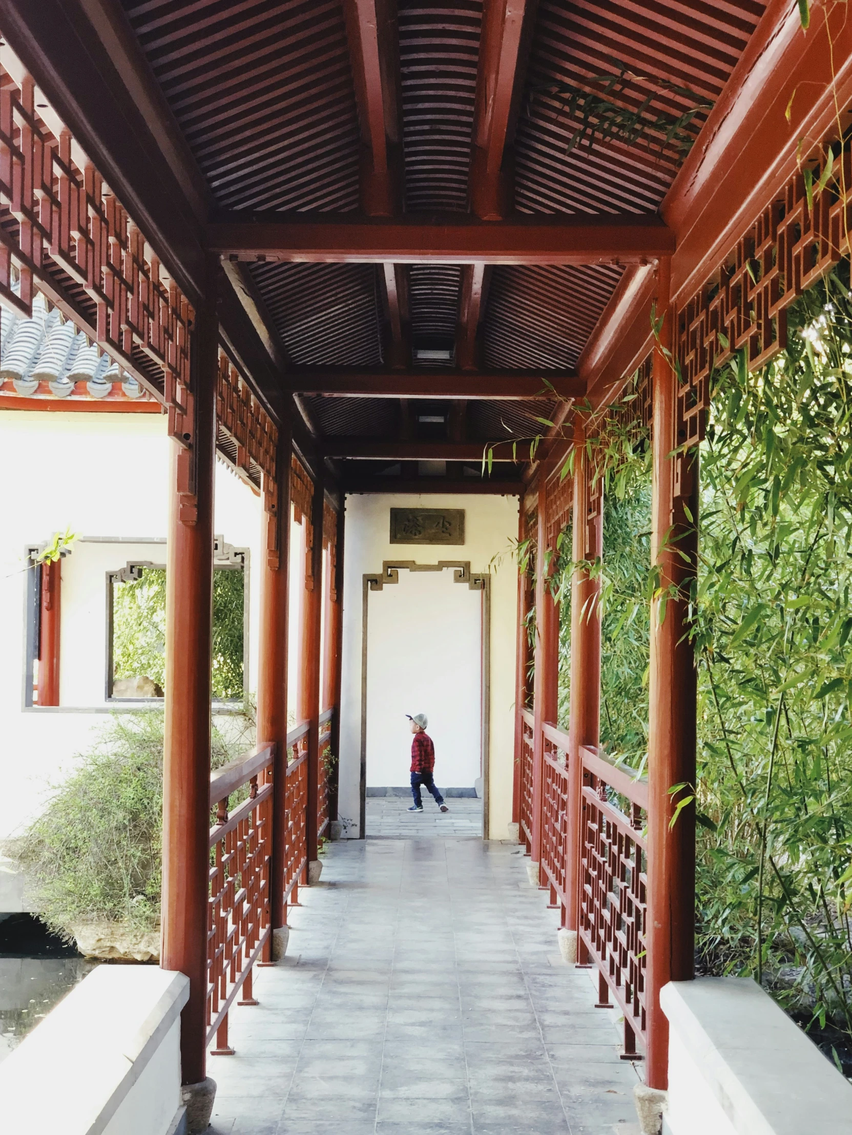
[[[390,543],[390,508],[448,507],[463,508],[466,538],[461,546],[403,545]],[[515,748],[515,623],[517,617],[517,573],[508,555],[509,541],[518,532],[517,497],[460,496],[414,494],[376,494],[348,496],[345,513],[345,560],[343,588],[343,679],[341,691],[340,816],[353,825],[349,834],[358,834],[359,774],[361,753],[361,586],[365,573],[382,570],[385,560],[414,560],[436,564],[440,560],[468,560],[474,572],[491,570],[491,763],[490,763],[490,830],[491,839],[506,839],[511,819],[512,763]],[[492,563],[494,557],[502,562]],[[435,577],[433,577],[435,578]],[[402,585],[396,585],[402,587]],[[448,589],[463,591],[458,583]],[[393,590],[393,587],[387,588]],[[469,592],[477,595],[477,592]],[[378,598],[371,595],[370,603]],[[453,596],[453,599],[456,596]],[[370,617],[377,609],[370,608]],[[424,633],[434,633],[425,627]],[[411,627],[412,647],[417,630]],[[478,665],[476,666],[478,676]],[[368,667],[369,674],[369,667]],[[419,708],[403,713],[419,713]],[[428,711],[424,711],[427,712]],[[390,715],[389,715],[390,716]],[[433,714],[434,716],[434,714]],[[406,734],[400,746],[410,750]],[[403,767],[408,763],[403,760]],[[438,754],[440,759],[440,754]],[[368,763],[369,767],[369,763]],[[438,776],[440,779],[440,776]],[[393,783],[393,781],[391,782]],[[406,783],[406,776],[396,783]],[[456,787],[456,785],[453,785]]]

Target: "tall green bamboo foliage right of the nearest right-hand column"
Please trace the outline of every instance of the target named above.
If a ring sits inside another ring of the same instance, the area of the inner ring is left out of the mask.
[[[785,352],[716,376],[698,591],[699,947],[852,1027],[852,301],[790,312]]]

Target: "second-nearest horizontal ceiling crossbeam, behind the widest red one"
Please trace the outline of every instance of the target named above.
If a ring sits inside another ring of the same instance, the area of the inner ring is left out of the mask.
[[[582,398],[585,382],[545,371],[364,371],[312,367],[291,370],[283,382],[292,394],[350,398],[468,398],[528,401]]]

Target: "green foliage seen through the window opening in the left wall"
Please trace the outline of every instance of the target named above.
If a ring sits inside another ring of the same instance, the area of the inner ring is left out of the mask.
[[[214,572],[212,696],[243,696],[243,615],[245,575],[235,569]],[[112,586],[112,664],[115,678],[144,674],[166,680],[166,572],[145,568],[141,579]]]

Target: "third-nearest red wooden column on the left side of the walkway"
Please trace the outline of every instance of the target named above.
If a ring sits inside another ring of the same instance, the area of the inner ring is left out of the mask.
[[[307,521],[308,518],[306,518]],[[323,479],[314,482],[310,527],[306,529],[306,580],[302,606],[302,676],[299,683],[299,721],[310,722],[308,733],[308,815],[306,838],[308,878],[317,858],[317,807],[319,787],[319,663],[323,621]]]

